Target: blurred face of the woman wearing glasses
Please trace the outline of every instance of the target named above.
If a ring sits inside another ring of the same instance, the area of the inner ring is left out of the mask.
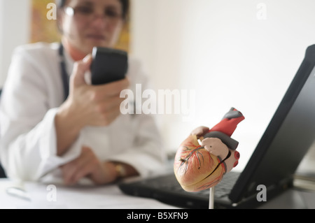
[[[68,0],[61,17],[62,35],[87,54],[94,46],[113,48],[123,22],[119,0]]]

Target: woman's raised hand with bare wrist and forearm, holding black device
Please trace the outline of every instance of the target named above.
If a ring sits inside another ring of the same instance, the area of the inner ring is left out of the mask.
[[[57,155],[62,155],[80,130],[86,126],[106,126],[120,115],[120,92],[129,85],[127,78],[105,85],[88,85],[85,73],[90,71],[92,56],[76,62],[70,77],[69,96],[57,110],[55,127]]]

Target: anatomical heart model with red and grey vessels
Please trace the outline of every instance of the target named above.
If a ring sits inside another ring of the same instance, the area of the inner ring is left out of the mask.
[[[197,192],[214,187],[237,166],[238,142],[230,136],[244,119],[244,115],[231,108],[212,129],[198,127],[181,143],[174,159],[174,173],[183,189]]]

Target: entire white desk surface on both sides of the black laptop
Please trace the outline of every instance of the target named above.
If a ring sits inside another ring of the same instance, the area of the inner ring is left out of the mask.
[[[8,187],[22,187],[17,182],[0,179],[0,209],[3,208],[71,208],[71,209],[174,209],[176,207],[120,192],[117,185],[103,187],[76,186],[65,187],[56,185],[55,196],[53,188],[48,185],[33,182],[24,183],[31,201],[11,196],[6,193]],[[55,199],[55,201],[54,201]],[[280,196],[262,203],[259,208],[311,208],[315,209],[315,192],[301,189],[289,189]]]

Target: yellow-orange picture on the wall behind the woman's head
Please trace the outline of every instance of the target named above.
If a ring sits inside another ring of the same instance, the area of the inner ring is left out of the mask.
[[[57,20],[48,17],[50,15],[51,3],[54,0],[31,0],[31,43],[60,41],[60,33],[57,28]],[[125,23],[116,48],[129,51],[130,43],[130,20]]]

